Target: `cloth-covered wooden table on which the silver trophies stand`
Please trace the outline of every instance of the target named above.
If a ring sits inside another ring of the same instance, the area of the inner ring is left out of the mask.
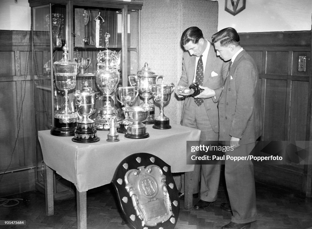
[[[108,131],[97,131],[100,141],[76,143],[72,137],[52,136],[50,130],[38,131],[43,161],[46,167],[46,214],[54,214],[53,170],[72,182],[77,189],[77,228],[86,228],[86,191],[109,184],[120,161],[134,153],[150,153],[171,166],[172,173],[186,172],[185,208],[192,208],[193,186],[190,179],[194,165],[186,164],[187,141],[198,141],[200,130],[171,124],[168,130],[156,130],[148,125],[145,139],[129,139],[119,134],[120,141],[108,142]],[[190,191],[189,191],[190,190]]]

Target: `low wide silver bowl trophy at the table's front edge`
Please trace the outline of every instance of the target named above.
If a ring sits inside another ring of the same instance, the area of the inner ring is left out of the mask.
[[[125,133],[126,138],[141,139],[149,137],[149,133],[146,132],[147,126],[144,125],[144,121],[149,118],[150,107],[133,106],[122,107],[125,116],[132,122]]]

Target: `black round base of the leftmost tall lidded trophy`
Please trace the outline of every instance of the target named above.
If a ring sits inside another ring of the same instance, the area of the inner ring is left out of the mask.
[[[76,118],[70,119],[71,122],[64,122],[65,119],[54,118],[54,126],[51,128],[51,135],[69,137],[75,135]],[[62,122],[60,122],[62,121]]]

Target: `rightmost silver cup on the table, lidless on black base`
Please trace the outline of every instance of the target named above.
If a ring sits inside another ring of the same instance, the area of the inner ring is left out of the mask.
[[[160,114],[155,118],[154,129],[170,129],[169,118],[163,113],[163,106],[169,103],[171,93],[174,91],[174,84],[155,84],[152,85],[152,93],[155,103],[160,104]]]

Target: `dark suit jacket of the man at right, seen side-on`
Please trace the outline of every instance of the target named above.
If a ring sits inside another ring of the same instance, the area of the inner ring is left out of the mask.
[[[255,61],[245,50],[234,60],[224,88],[215,89],[219,101],[219,140],[240,138],[240,144],[255,142],[262,134],[260,87]]]

